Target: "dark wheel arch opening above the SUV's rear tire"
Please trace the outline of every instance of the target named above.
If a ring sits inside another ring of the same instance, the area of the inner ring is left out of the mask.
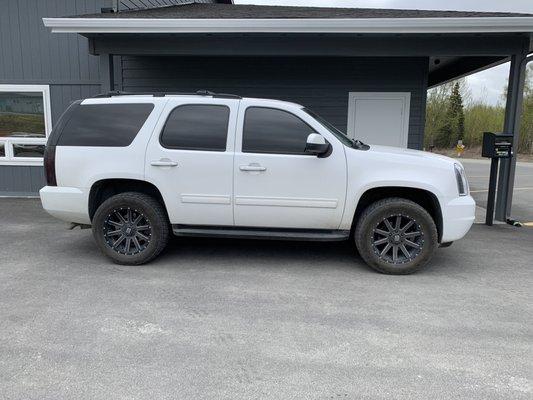
[[[165,210],[168,219],[168,212],[165,201],[159,189],[152,183],[140,179],[113,178],[96,181],[91,186],[89,192],[89,218],[93,219],[94,213],[105,200],[125,192],[138,192],[152,196]]]

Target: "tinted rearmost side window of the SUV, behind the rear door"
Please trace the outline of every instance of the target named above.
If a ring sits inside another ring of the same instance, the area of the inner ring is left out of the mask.
[[[129,146],[153,104],[90,104],[76,107],[59,137],[59,146]]]

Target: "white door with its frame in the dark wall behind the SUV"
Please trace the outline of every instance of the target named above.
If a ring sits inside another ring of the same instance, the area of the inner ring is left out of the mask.
[[[364,143],[407,147],[410,93],[349,95],[348,136]]]

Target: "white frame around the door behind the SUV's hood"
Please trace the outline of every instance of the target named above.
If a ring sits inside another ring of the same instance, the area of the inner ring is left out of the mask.
[[[411,111],[411,92],[349,92],[348,93],[348,136],[355,138],[355,102],[357,100],[402,100],[403,123],[401,144],[407,148],[409,139],[409,116]]]

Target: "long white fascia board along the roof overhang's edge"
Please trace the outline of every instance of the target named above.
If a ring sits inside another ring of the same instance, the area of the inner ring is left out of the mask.
[[[54,33],[533,33],[533,17],[159,19],[43,18]]]

